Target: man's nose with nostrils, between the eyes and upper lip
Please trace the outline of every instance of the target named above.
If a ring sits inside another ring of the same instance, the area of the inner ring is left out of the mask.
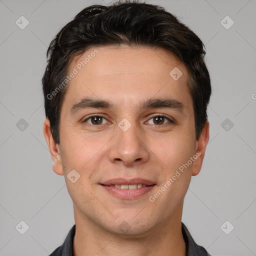
[[[108,152],[111,162],[133,166],[148,161],[150,150],[146,146],[145,133],[142,130],[132,124],[126,131],[117,126],[116,132]]]

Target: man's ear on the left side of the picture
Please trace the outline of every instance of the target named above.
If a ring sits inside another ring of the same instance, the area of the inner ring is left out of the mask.
[[[49,119],[45,119],[43,122],[43,133],[44,137],[46,139],[46,142],[48,144],[48,148],[51,154],[51,158],[53,160],[52,169],[55,173],[58,175],[64,175],[63,172],[63,166],[61,163],[61,156],[60,156],[60,148],[59,145],[55,142],[55,140],[52,137],[51,131],[50,131],[50,121]]]

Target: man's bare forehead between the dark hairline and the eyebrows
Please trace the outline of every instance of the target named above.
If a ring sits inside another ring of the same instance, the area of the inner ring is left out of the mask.
[[[68,73],[74,70],[67,90],[70,104],[84,96],[133,103],[154,95],[191,101],[185,65],[162,48],[94,46],[71,59]]]

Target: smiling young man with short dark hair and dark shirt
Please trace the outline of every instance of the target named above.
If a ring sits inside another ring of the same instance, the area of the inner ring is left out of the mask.
[[[43,129],[75,225],[50,255],[209,255],[181,222],[209,139],[204,54],[146,3],[89,6],[52,40]]]

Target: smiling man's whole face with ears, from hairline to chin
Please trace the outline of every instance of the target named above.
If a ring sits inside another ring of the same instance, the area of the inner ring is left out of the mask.
[[[44,134],[75,220],[137,236],[180,221],[208,141],[208,123],[195,139],[184,64],[160,48],[104,46],[73,58],[71,72],[60,144],[47,120]]]

